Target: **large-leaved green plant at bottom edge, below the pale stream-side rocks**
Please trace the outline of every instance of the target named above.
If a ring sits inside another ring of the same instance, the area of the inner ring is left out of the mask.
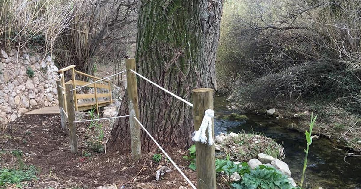
[[[231,184],[235,189],[294,189],[288,177],[274,167],[260,165],[244,173],[242,181]]]

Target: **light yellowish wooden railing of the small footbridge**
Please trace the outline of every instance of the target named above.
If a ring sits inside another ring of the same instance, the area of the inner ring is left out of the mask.
[[[65,72],[66,71],[71,71],[71,80],[69,81],[65,81]],[[91,87],[94,88],[94,93],[91,94],[77,94],[77,90],[73,91],[73,97],[74,97],[74,108],[75,111],[83,111],[83,110],[89,110],[92,108],[96,108],[96,113],[99,116],[99,108],[102,106],[106,106],[108,104],[112,104],[112,89],[110,87],[110,80],[102,80],[103,82],[105,82],[106,84],[100,84],[98,83],[94,83],[91,85],[88,85],[92,82],[87,82],[87,81],[81,81],[81,80],[76,80],[75,79],[75,74],[84,76],[84,77],[90,77],[91,79],[93,79],[93,81],[97,81],[97,80],[101,80],[101,78],[93,76],[93,75],[89,75],[86,73],[83,73],[81,71],[75,70],[75,65],[71,65],[65,68],[60,69],[59,74],[62,75],[61,79],[60,79],[60,87],[65,89],[65,84],[73,84],[73,89],[75,89],[77,86],[83,86],[83,85],[87,85],[87,87]],[[100,81],[101,82],[101,81]],[[58,86],[59,87],[59,86]],[[108,89],[108,93],[98,93],[97,89]],[[62,102],[59,102],[60,106],[63,106],[64,111],[67,113],[68,112],[68,108],[67,108],[67,97],[65,95],[65,93],[61,93],[58,95],[62,95],[62,98],[59,98],[62,100]],[[104,101],[99,101],[98,98],[104,98],[104,97],[109,97],[109,100],[104,100]],[[89,101],[89,102],[84,102],[84,103],[79,103],[78,104],[78,100],[79,99],[90,99],[90,98],[95,98],[95,101]],[[62,107],[60,107],[62,108]]]

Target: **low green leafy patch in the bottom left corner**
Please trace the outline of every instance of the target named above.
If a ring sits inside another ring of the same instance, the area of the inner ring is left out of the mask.
[[[21,182],[38,179],[36,173],[38,171],[33,165],[24,169],[0,169],[0,186],[16,184],[17,187],[21,188]]]

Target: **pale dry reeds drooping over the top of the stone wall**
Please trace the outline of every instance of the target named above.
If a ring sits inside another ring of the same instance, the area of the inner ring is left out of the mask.
[[[58,35],[69,26],[74,1],[2,0],[0,2],[0,43],[21,49],[40,43],[54,46]]]

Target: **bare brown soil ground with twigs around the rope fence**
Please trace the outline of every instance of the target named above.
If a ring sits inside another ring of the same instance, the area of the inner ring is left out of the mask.
[[[106,125],[103,126],[105,137],[109,137],[110,128]],[[87,146],[87,128],[86,123],[77,125],[78,154],[74,155],[70,153],[68,130],[61,129],[58,115],[22,116],[0,134],[0,167],[16,168],[19,162],[11,152],[21,150],[25,164],[39,169],[39,179],[23,184],[24,188],[96,188],[113,184],[125,189],[190,188],[164,158],[155,163],[153,154],[145,154],[140,160],[133,161],[131,155],[122,149],[119,149],[121,152],[106,154],[92,152]],[[91,152],[91,156],[84,156],[84,152]],[[196,184],[196,172],[191,171],[188,162],[182,158],[185,154],[178,149],[169,152]],[[155,181],[155,172],[161,165],[169,166],[173,171]],[[221,177],[218,180],[218,188],[228,188]],[[14,188],[14,185],[6,185],[6,188]]]

